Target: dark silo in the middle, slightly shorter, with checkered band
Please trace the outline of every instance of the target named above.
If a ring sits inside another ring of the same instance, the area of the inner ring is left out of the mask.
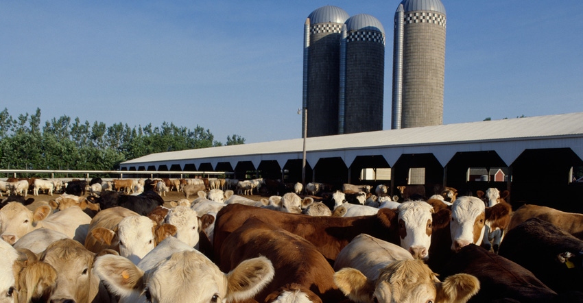
[[[383,130],[385,30],[369,14],[351,16],[344,28],[338,133]]]

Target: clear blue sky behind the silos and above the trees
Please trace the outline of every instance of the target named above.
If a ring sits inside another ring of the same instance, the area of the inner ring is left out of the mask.
[[[442,2],[445,124],[583,112],[583,1]],[[303,25],[336,5],[385,27],[388,130],[398,3],[0,1],[0,110],[300,138]]]

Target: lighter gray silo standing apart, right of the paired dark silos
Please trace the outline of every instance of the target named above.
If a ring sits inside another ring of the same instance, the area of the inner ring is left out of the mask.
[[[403,0],[395,13],[392,129],[443,124],[446,14],[440,0]]]

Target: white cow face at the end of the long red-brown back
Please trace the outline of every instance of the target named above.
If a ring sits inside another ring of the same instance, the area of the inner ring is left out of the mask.
[[[401,247],[408,250],[414,258],[429,258],[433,206],[421,201],[405,202],[397,210]]]

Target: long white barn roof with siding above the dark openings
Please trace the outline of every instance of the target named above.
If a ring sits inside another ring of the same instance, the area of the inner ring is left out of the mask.
[[[578,144],[573,144],[573,140]],[[216,165],[217,162],[241,160],[251,160],[256,166],[261,160],[278,160],[285,164],[285,160],[291,158],[301,159],[302,147],[302,138],[296,138],[169,151],[128,160],[122,162],[121,167],[161,164],[184,167],[191,162]],[[307,160],[312,165],[318,158],[333,156],[344,158],[350,165],[356,156],[375,154],[382,154],[392,165],[401,154],[415,153],[433,153],[445,165],[457,151],[481,150],[496,150],[510,165],[524,149],[551,147],[571,147],[583,158],[583,112],[320,136],[306,141]]]

